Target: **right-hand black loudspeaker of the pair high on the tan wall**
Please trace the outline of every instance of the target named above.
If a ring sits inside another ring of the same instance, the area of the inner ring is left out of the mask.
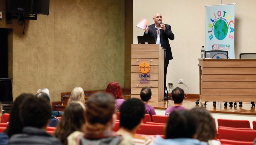
[[[33,0],[32,14],[49,15],[50,0]]]

